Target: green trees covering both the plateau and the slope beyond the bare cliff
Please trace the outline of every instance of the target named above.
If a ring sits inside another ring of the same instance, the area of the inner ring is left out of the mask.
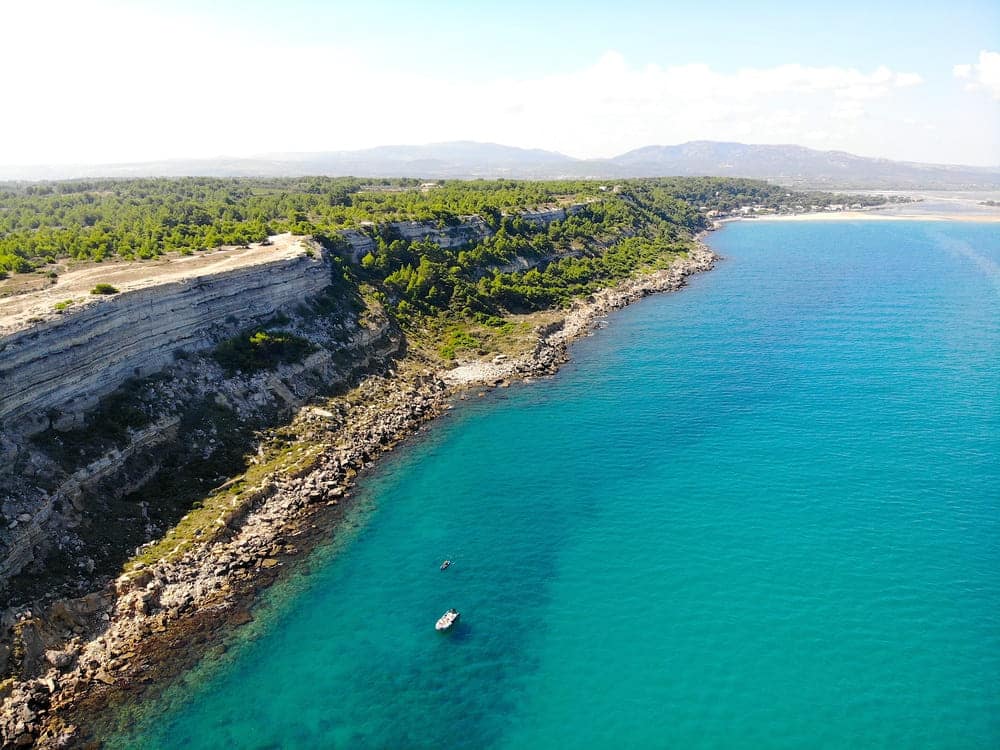
[[[710,211],[833,202],[846,201],[722,178],[7,184],[0,185],[0,276],[32,270],[51,275],[52,264],[74,260],[190,254],[280,232],[312,235],[336,265],[332,293],[357,299],[362,288],[369,290],[370,301],[410,333],[428,333],[432,347],[451,358],[487,340],[496,344],[507,335],[512,314],[562,307],[638,271],[666,267],[708,226]],[[454,230],[459,238],[463,227],[475,231],[464,244],[442,247],[429,238],[407,239],[400,221]],[[349,259],[344,229],[371,238],[371,251],[358,262]],[[114,291],[99,284],[92,293]],[[228,373],[253,372],[301,359],[308,346],[290,333],[255,330],[221,344],[215,357]]]

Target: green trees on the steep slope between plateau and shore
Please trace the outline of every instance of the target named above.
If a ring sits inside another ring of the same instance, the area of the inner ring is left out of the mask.
[[[403,319],[449,311],[488,325],[546,309],[688,248],[705,217],[667,191],[622,185],[547,226],[504,216],[496,233],[463,249],[376,237],[360,280]]]

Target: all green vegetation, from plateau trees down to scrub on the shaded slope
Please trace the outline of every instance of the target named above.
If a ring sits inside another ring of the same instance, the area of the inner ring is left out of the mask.
[[[556,308],[635,274],[666,268],[690,251],[694,235],[709,225],[709,211],[779,209],[800,202],[844,201],[790,194],[762,182],[708,178],[612,184],[312,178],[0,185],[0,275],[48,275],[60,270],[57,263],[138,262],[286,231],[312,235],[332,271],[330,286],[294,309],[283,308],[235,336],[234,318],[224,334],[230,338],[213,349],[176,352],[177,360],[198,361],[179,363],[173,374],[126,383],[85,416],[53,410],[47,414],[49,428],[33,445],[67,474],[120,452],[115,471],[138,489],[123,495],[124,490],[101,486],[94,497],[103,516],[134,523],[90,524],[78,532],[98,568],[116,569],[128,550],[171,528],[138,560],[179,554],[200,534],[218,532],[220,516],[252,502],[250,494],[242,494],[246,488],[256,491],[258,480],[279,469],[312,465],[323,450],[318,442],[298,440],[291,429],[287,441],[263,438],[262,430],[285,424],[291,403],[291,397],[267,394],[333,395],[360,377],[371,361],[365,357],[373,353],[378,366],[388,352],[402,357],[393,367],[419,363],[421,371],[468,354],[522,356],[537,345],[539,326],[558,320]],[[441,230],[447,241],[408,239],[426,235],[429,227]],[[361,236],[352,233],[349,241],[344,229]],[[463,243],[463,238],[469,239]],[[18,282],[4,286],[16,288]],[[107,283],[93,287],[95,294],[116,291]],[[66,312],[91,301],[47,304]],[[74,314],[82,313],[74,309],[67,317]],[[307,372],[296,387],[277,390],[275,383],[304,369],[287,365],[320,347],[329,357],[315,361],[337,367],[344,379]],[[405,356],[409,353],[415,356]],[[259,375],[268,370],[276,371],[275,377]],[[227,381],[227,387],[216,392],[216,380]],[[341,413],[329,413],[335,412]],[[307,426],[301,429],[312,430],[303,420]],[[141,442],[168,431],[171,437],[162,446]],[[127,449],[134,444],[140,448],[132,453]],[[150,479],[152,452],[158,470]],[[243,472],[243,482],[228,481]],[[28,591],[35,582],[25,578],[19,585]]]

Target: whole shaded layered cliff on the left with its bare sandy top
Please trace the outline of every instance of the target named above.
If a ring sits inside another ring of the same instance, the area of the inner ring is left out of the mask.
[[[522,218],[544,227],[579,208]],[[0,299],[0,606],[69,592],[95,568],[120,565],[213,482],[243,470],[257,431],[388,365],[401,332],[377,299],[343,283],[341,264],[375,247],[366,229],[325,246],[272,237],[145,276],[135,264],[89,269],[58,289]],[[383,231],[442,248],[495,233],[475,216]],[[98,271],[120,292],[87,295]],[[53,309],[74,292],[76,304]],[[248,333],[298,351],[264,368],[212,356],[222,342],[247,344],[239,337]]]

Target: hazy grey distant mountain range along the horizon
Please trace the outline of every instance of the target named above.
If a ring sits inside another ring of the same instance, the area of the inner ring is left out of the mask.
[[[691,141],[646,146],[612,159],[574,159],[555,151],[453,141],[359,151],[264,154],[252,158],[177,159],[135,164],[0,166],[0,180],[79,177],[422,177],[559,179],[668,176],[752,177],[819,189],[997,190],[1000,166],[964,167],[891,161],[802,146]]]

